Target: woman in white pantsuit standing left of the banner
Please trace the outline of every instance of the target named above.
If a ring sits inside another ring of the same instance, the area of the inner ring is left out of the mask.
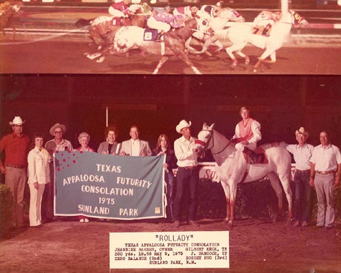
[[[43,135],[35,133],[28,153],[28,185],[30,186],[30,226],[41,227],[41,199],[45,184],[50,183],[50,154],[43,148]]]

